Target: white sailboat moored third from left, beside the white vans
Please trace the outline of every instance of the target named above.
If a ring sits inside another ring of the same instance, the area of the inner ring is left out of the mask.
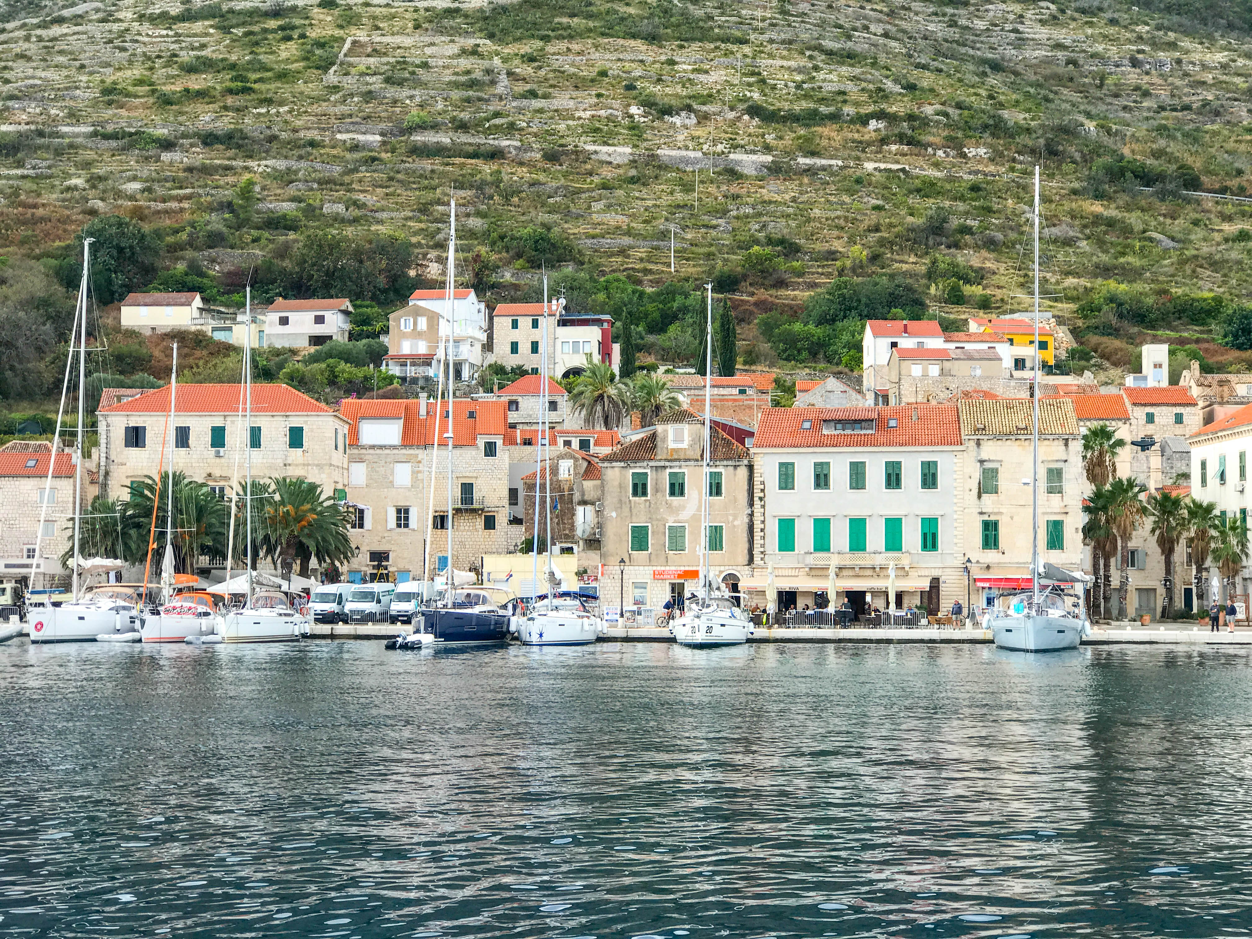
[[[252,288],[245,287],[244,312],[245,312],[245,338],[243,344],[243,381],[244,381],[244,432],[239,434],[242,447],[247,454],[247,486],[244,488],[244,517],[247,548],[247,575],[245,598],[239,610],[229,611],[217,623],[217,636],[223,642],[295,642],[300,636],[309,632],[307,616],[292,608],[287,596],[280,591],[253,590],[253,575],[255,573],[255,558],[252,556],[252,500],[257,496],[252,491]],[[232,537],[234,523],[232,518]],[[234,550],[233,543],[227,545],[227,555]]]

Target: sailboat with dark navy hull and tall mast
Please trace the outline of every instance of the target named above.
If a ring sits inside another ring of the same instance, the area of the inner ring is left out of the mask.
[[[451,223],[448,227],[448,277],[447,277],[447,293],[444,299],[444,312],[439,314],[439,327],[441,337],[439,346],[442,353],[442,363],[439,366],[439,386],[443,383],[443,367],[448,369],[448,397],[447,397],[447,421],[443,427],[443,439],[448,442],[448,516],[447,516],[447,532],[448,532],[448,565],[443,571],[443,590],[434,593],[433,597],[428,598],[427,603],[419,610],[413,611],[413,630],[409,634],[401,634],[393,640],[388,640],[387,649],[422,649],[423,646],[488,646],[500,645],[508,641],[508,623],[510,617],[506,610],[502,610],[496,602],[490,597],[487,591],[467,587],[461,588],[457,586],[457,571],[452,566],[452,486],[453,486],[453,471],[452,471],[452,446],[453,446],[453,399],[456,397],[456,363],[453,362],[454,347],[452,343],[453,328],[456,323],[454,318],[454,290],[453,284],[456,280],[456,242],[457,242],[457,200],[456,197],[451,198],[448,202],[448,212],[451,215]],[[447,324],[443,323],[443,317],[447,316]],[[437,359],[438,361],[438,357]],[[439,444],[438,444],[438,432],[439,432],[439,397],[436,393],[434,398],[434,434],[436,438],[432,441],[431,447],[431,502],[429,507],[433,508],[434,505],[434,462],[438,459]],[[429,526],[431,526],[432,513],[428,511],[427,515],[427,543],[429,543]],[[424,580],[424,575],[423,575]]]

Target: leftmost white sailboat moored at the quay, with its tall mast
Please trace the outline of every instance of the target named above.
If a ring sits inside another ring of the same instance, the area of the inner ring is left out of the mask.
[[[96,558],[89,567],[83,560],[83,423],[85,407],[86,384],[86,290],[88,270],[90,268],[91,243],[95,239],[83,239],[83,280],[79,285],[78,305],[74,310],[74,326],[70,329],[69,358],[65,362],[65,381],[61,384],[61,404],[56,412],[56,433],[53,436],[53,447],[48,462],[48,482],[45,492],[53,482],[53,468],[56,464],[56,448],[61,439],[61,418],[65,414],[65,397],[70,387],[70,372],[74,363],[74,333],[78,332],[79,341],[79,374],[78,374],[78,403],[79,422],[78,437],[74,444],[74,552],[73,552],[73,580],[71,600],[60,606],[51,606],[48,595],[44,596],[43,606],[31,606],[26,613],[26,631],[30,641],[41,642],[94,642],[126,641],[133,642],[139,639],[139,610],[136,603],[128,602],[113,593],[99,592],[84,596],[81,592],[83,577],[91,570],[118,570],[120,562],[109,562]],[[39,512],[39,530],[35,532],[35,557],[39,557],[39,542],[44,533],[44,520],[48,512],[48,500]],[[35,562],[31,562],[31,581],[34,581]]]

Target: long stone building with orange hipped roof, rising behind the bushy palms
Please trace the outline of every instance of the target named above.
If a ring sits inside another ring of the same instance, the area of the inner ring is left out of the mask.
[[[180,384],[169,428],[173,470],[228,495],[244,480],[244,421],[240,386]],[[170,468],[163,462],[169,386],[104,406],[100,432],[100,495],[125,498],[145,477]],[[285,384],[252,387],[252,476],[298,476],[326,493],[348,480],[348,423],[326,404]]]

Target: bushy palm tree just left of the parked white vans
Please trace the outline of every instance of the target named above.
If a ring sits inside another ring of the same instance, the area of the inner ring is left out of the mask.
[[[343,506],[308,480],[284,476],[270,483],[275,497],[264,501],[265,541],[279,571],[288,573],[299,561],[300,577],[308,577],[313,558],[319,565],[338,565],[352,557]]]

